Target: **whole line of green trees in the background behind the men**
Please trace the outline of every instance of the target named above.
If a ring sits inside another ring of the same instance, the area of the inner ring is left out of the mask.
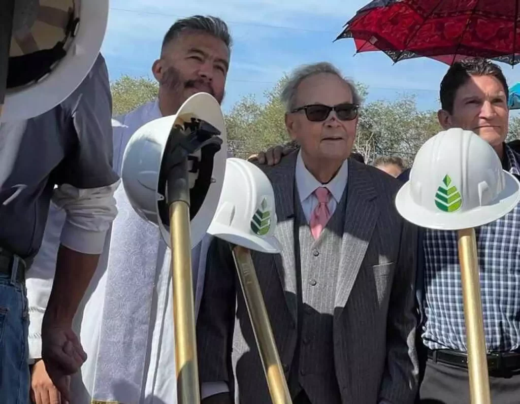
[[[237,157],[246,158],[270,146],[290,140],[285,129],[285,109],[280,93],[288,76],[264,93],[265,100],[244,96],[225,115],[228,147]],[[366,99],[369,88],[356,83]],[[159,85],[148,77],[121,76],[111,84],[114,115],[131,111],[157,97]],[[354,150],[370,163],[380,155],[394,154],[413,161],[424,142],[441,130],[436,111],[419,111],[414,96],[394,101],[363,103],[359,114]],[[508,140],[519,137],[520,117],[510,119]]]

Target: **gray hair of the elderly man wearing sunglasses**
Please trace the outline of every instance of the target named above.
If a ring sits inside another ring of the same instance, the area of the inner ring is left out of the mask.
[[[285,106],[285,111],[290,112],[296,108],[296,94],[300,84],[305,79],[308,79],[308,77],[320,73],[334,74],[340,77],[340,79],[345,81],[345,83],[350,87],[350,92],[352,92],[352,102],[358,105],[361,103],[361,97],[357,92],[355,84],[351,80],[346,79],[346,77],[341,74],[340,70],[334,67],[333,64],[329,62],[319,62],[305,64],[292,72],[288,82],[284,84],[280,94],[280,99]]]

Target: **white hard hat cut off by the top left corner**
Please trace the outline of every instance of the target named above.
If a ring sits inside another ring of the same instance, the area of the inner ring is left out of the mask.
[[[33,118],[69,97],[94,65],[108,0],[15,0],[0,122]]]

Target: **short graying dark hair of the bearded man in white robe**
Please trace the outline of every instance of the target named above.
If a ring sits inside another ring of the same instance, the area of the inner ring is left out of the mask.
[[[161,49],[164,49],[166,45],[186,31],[202,31],[206,34],[213,35],[219,40],[222,40],[231,53],[233,41],[227,24],[220,18],[212,16],[192,16],[175,21],[168,32],[166,32],[166,35],[164,35]]]

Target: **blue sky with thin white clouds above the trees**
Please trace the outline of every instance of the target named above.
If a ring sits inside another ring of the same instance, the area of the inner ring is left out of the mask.
[[[438,85],[446,64],[421,58],[394,64],[379,52],[356,56],[353,40],[332,41],[369,0],[111,0],[102,47],[111,80],[122,74],[151,76],[164,34],[194,14],[224,19],[234,46],[223,104],[229,110],[245,95],[262,99],[285,72],[303,63],[329,61],[369,86],[368,100],[414,94],[420,109],[438,108]],[[520,67],[501,64],[510,85]]]

